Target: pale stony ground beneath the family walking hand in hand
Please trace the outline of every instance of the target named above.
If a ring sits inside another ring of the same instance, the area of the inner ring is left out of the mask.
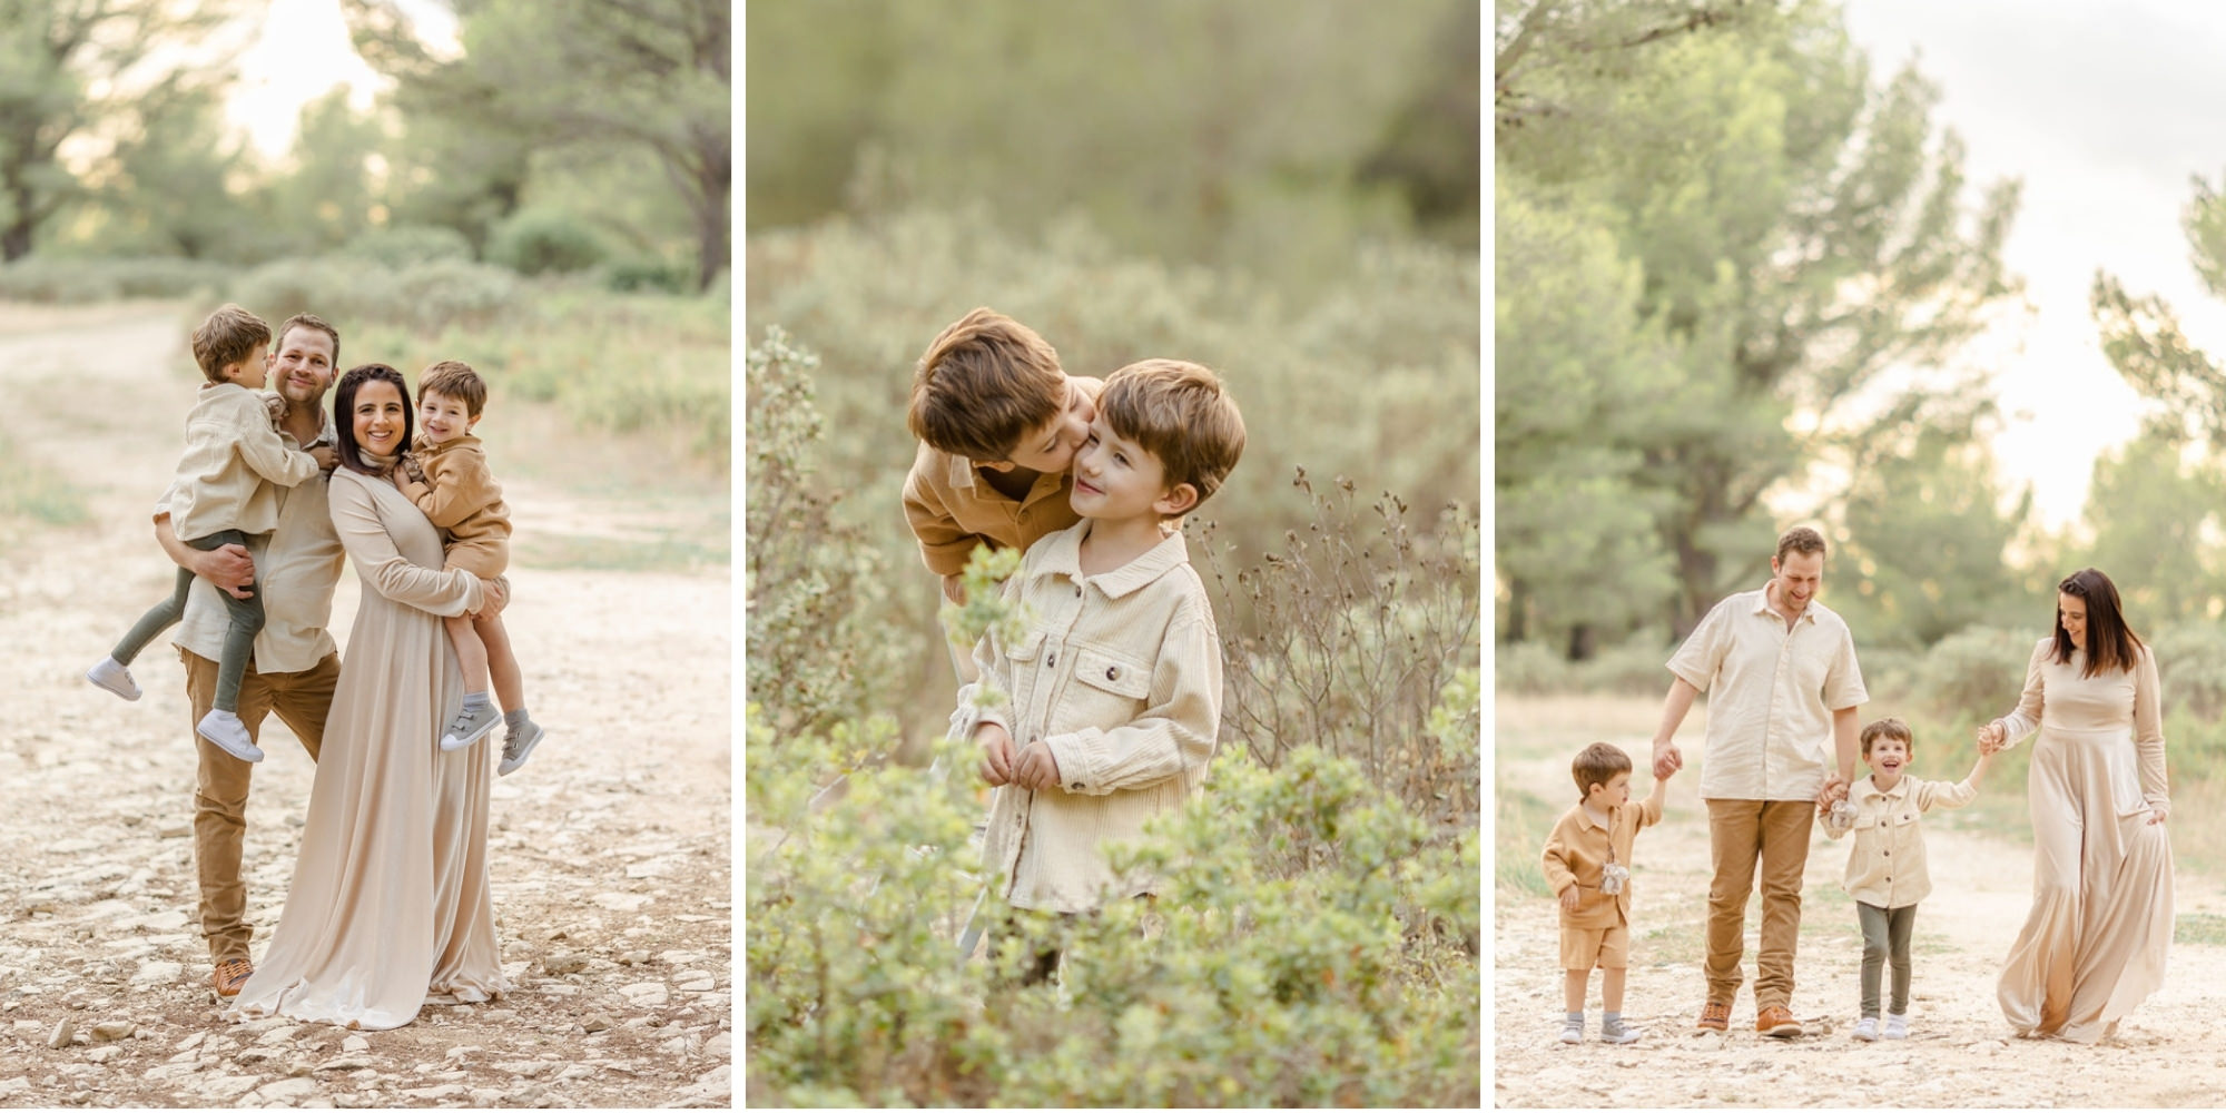
[[[1498,779],[1558,812],[1569,799],[1569,755],[1589,739],[1647,752],[1654,701],[1498,701]],[[1694,1035],[1701,1011],[1701,924],[1707,902],[1707,815],[1696,795],[1701,715],[1678,732],[1685,772],[1670,786],[1661,826],[1634,850],[1634,939],[1625,1017],[1645,1040],[1603,1046],[1598,979],[1587,999],[1587,1042],[1556,1042],[1560,971],[1549,897],[1500,890],[1494,937],[1494,1104],[1500,1106],[2215,1106],[2226,1102],[2226,1017],[2219,991],[2226,948],[2175,944],[2170,982],[2119,1035],[2084,1048],[2015,1040],[1994,1004],[2001,957],[2023,924],[2032,884],[2028,846],[1930,812],[1925,853],[1932,897],[1917,913],[1908,1042],[1861,1044],[1854,1026],[1861,937],[1839,888],[1845,844],[1810,846],[1803,888],[1794,1013],[1812,1035],[1754,1035],[1754,926],[1747,917],[1747,986],[1727,1037]],[[1943,777],[1923,761],[1919,775]],[[1961,770],[1957,770],[1961,775]],[[1645,775],[1634,795],[1645,792]],[[1986,781],[1981,792],[2023,795]],[[1543,844],[1545,830],[1536,839]],[[2175,877],[2181,917],[2219,913],[2226,895],[2186,868]]]

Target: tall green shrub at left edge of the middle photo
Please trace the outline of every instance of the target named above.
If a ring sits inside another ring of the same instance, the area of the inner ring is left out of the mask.
[[[815,461],[819,356],[781,329],[748,354],[748,670],[750,699],[784,732],[824,730],[886,706],[897,646],[886,637],[888,577],[859,530],[835,516],[844,487]],[[982,592],[988,594],[988,592]]]

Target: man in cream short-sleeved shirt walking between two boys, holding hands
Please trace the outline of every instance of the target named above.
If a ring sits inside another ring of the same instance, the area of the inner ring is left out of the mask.
[[[1856,710],[1870,699],[1848,623],[1816,601],[1823,554],[1823,534],[1787,530],[1770,559],[1770,583],[1716,603],[1670,659],[1676,679],[1654,730],[1656,777],[1685,764],[1672,737],[1692,699],[1714,688],[1707,764],[1701,770],[1714,866],[1707,886],[1707,1002],[1698,1020],[1705,1031],[1721,1033],[1732,1024],[1747,895],[1761,861],[1754,1031],[1801,1035],[1790,1004],[1810,824],[1819,806],[1839,799],[1854,781]]]

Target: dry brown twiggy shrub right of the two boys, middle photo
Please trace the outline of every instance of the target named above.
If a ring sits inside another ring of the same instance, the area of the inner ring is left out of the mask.
[[[1476,697],[1476,519],[1447,508],[1416,536],[1396,494],[1362,512],[1349,479],[1316,492],[1300,467],[1296,485],[1313,503],[1304,536],[1233,583],[1213,528],[1198,534],[1224,610],[1244,617],[1222,634],[1224,730],[1267,768],[1322,748],[1418,815],[1471,824],[1476,752],[1449,755],[1429,723],[1451,688]]]

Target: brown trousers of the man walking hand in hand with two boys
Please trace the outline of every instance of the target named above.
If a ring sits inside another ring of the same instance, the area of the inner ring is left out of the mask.
[[[1732,1004],[1743,977],[1747,895],[1763,866],[1763,937],[1754,951],[1754,1008],[1792,1008],[1794,946],[1801,937],[1801,873],[1808,868],[1810,799],[1712,799],[1707,848],[1707,999]]]

